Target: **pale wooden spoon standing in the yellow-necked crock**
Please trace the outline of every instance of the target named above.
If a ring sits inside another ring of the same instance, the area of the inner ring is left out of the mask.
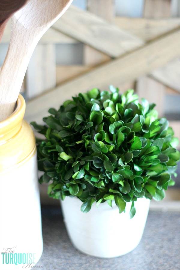
[[[29,0],[12,17],[10,44],[0,73],[0,121],[13,113],[32,52],[73,0]]]

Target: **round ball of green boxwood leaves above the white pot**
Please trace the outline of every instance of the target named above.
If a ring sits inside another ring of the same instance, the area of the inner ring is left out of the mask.
[[[174,184],[178,139],[165,118],[158,118],[155,104],[138,101],[133,90],[124,94],[93,89],[49,109],[45,125],[31,124],[45,139],[37,139],[38,168],[49,182],[48,194],[64,200],[76,196],[81,211],[94,202],[115,200],[119,213],[140,197],[162,200]]]

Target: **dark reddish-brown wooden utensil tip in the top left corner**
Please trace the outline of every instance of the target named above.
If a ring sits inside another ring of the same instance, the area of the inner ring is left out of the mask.
[[[0,41],[7,21],[26,2],[27,0],[0,0]]]

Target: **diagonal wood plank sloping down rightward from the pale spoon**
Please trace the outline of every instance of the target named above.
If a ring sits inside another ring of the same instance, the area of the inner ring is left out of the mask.
[[[65,15],[65,16],[64,16]],[[131,35],[91,12],[72,5],[52,26],[111,57],[118,57],[143,44],[140,38]]]

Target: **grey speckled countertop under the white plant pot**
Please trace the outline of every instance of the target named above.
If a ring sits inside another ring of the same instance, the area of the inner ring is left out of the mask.
[[[44,251],[36,266],[44,270],[180,270],[180,212],[149,211],[138,247],[113,259],[76,250],[67,236],[60,208],[42,208],[42,227]]]

